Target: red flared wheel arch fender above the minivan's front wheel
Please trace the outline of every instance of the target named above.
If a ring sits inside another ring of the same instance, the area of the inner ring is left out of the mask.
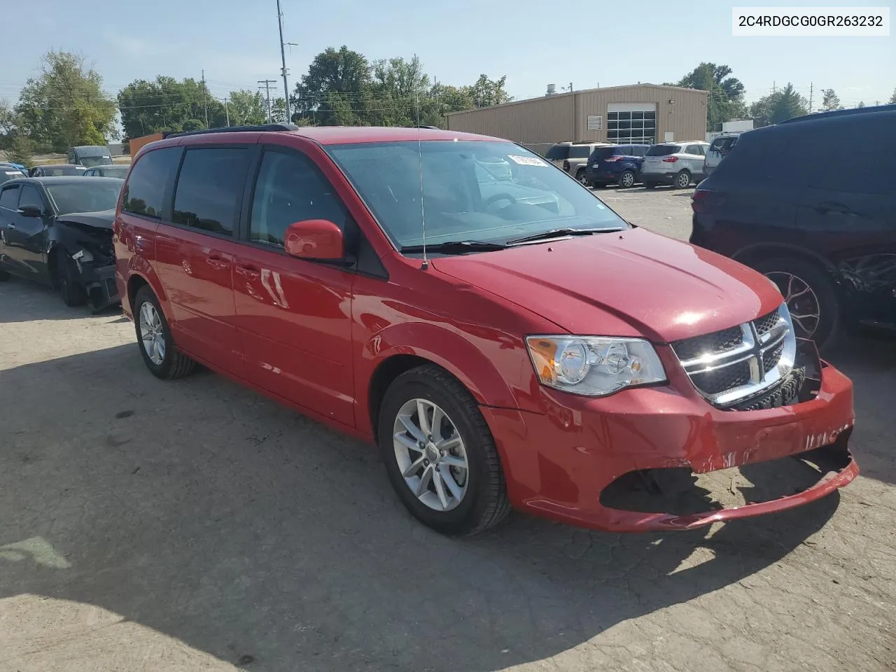
[[[494,333],[474,337],[436,324],[392,324],[375,333],[361,349],[357,370],[358,390],[365,391],[365,395],[369,393],[369,381],[373,380],[376,369],[387,359],[412,355],[442,366],[463,383],[478,404],[518,408],[510,386],[493,361],[499,352],[508,350],[509,339],[503,332],[489,331]],[[521,341],[520,347],[523,347]],[[521,358],[521,362],[525,360]],[[362,408],[369,408],[368,399],[359,401],[363,404]]]

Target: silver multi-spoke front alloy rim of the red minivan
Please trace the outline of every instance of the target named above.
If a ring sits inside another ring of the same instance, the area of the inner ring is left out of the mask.
[[[457,426],[426,399],[411,399],[392,426],[395,461],[401,477],[422,504],[451,511],[470,483],[470,462]]]

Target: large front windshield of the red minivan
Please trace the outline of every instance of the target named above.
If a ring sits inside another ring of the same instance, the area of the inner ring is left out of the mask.
[[[511,142],[370,142],[327,151],[399,248],[423,243],[424,221],[426,245],[434,246],[628,228],[576,180]]]

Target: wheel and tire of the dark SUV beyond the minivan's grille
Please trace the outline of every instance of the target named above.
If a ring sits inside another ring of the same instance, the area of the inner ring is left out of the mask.
[[[831,279],[821,266],[786,256],[762,259],[750,265],[778,285],[788,303],[797,338],[810,338],[819,348],[834,342],[840,331],[842,309]],[[812,314],[813,302],[817,306],[817,319],[805,316]]]

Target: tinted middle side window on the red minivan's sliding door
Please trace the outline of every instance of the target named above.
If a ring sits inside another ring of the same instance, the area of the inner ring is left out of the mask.
[[[188,149],[177,178],[175,224],[232,236],[248,168],[244,147]]]

